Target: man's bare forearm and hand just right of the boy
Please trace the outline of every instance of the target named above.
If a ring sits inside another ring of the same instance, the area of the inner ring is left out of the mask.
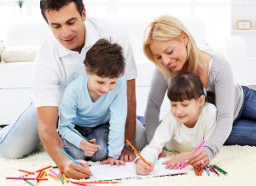
[[[125,123],[125,139],[135,143],[136,132],[136,92],[135,79],[127,81],[127,118]],[[133,161],[135,154],[131,149],[123,149],[120,155],[122,161]]]

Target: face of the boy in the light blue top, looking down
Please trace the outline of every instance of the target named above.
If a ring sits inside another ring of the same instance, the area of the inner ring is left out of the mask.
[[[95,74],[89,74],[88,76],[88,90],[98,96],[112,91],[118,82],[118,78],[110,79],[109,77],[96,76]]]

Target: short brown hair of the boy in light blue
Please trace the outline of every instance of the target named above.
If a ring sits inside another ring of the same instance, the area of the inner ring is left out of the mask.
[[[98,40],[86,54],[86,70],[96,76],[117,78],[125,72],[123,49],[106,39]]]

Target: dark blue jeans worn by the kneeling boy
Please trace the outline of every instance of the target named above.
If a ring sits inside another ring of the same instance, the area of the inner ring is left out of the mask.
[[[77,148],[73,144],[70,144],[66,139],[62,138],[64,149],[69,155],[71,155],[74,159],[86,161],[104,161],[108,158],[109,123],[96,127],[75,126],[75,129],[89,140],[96,138],[96,144],[101,145],[102,148],[97,150],[96,153],[91,157],[86,157],[82,149]]]

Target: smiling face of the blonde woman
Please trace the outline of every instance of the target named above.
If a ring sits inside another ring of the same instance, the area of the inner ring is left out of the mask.
[[[179,40],[154,40],[154,42],[149,45],[149,48],[160,64],[165,65],[166,68],[173,72],[180,72],[185,70],[184,68],[188,58],[186,45],[186,37],[181,37]]]

